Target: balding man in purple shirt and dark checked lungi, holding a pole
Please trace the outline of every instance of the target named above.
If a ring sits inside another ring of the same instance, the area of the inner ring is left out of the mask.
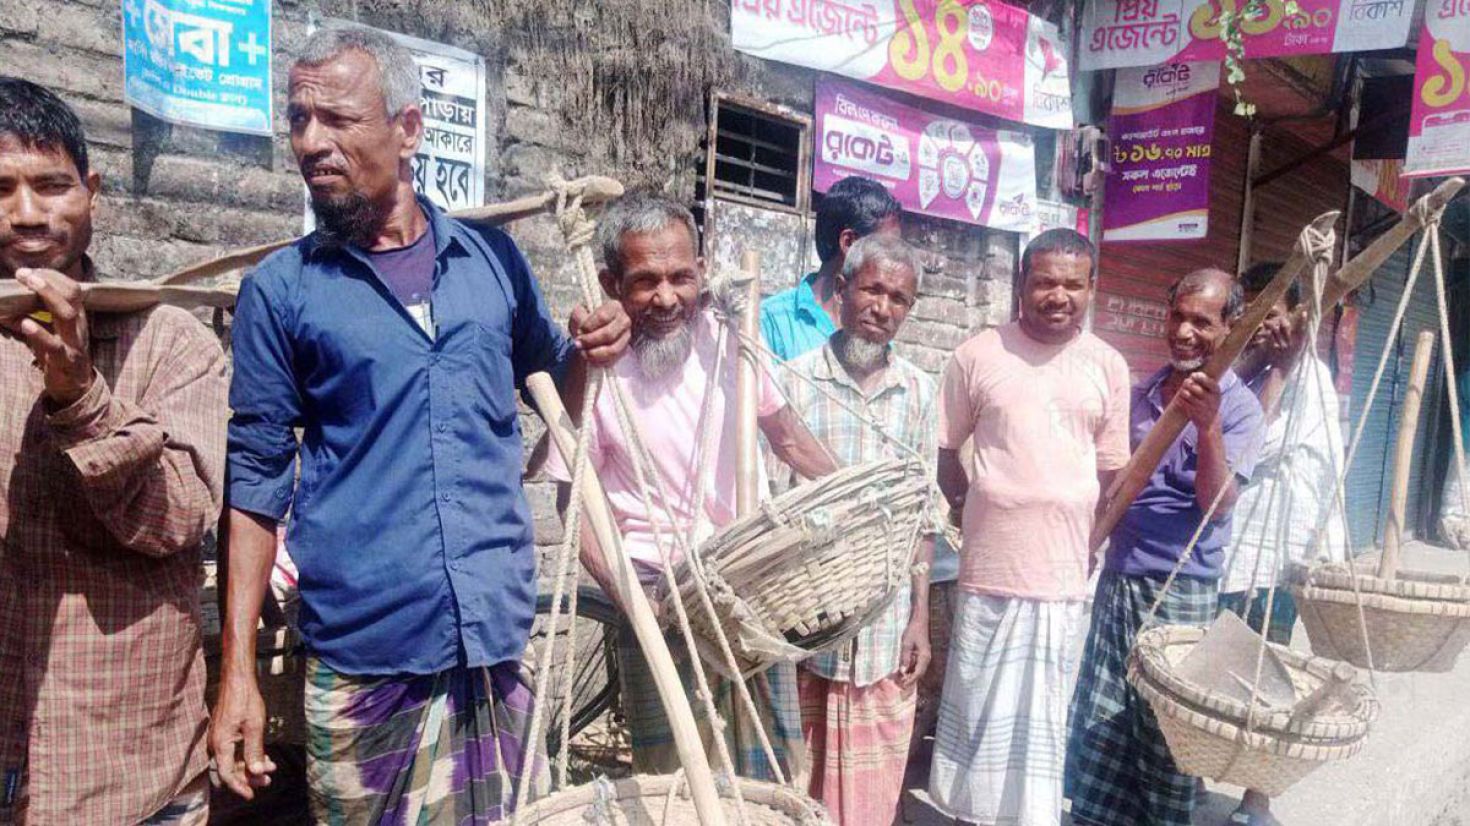
[[[1216,616],[1230,509],[1255,466],[1263,416],[1233,372],[1214,381],[1200,369],[1244,304],[1226,272],[1179,279],[1169,290],[1169,364],[1133,388],[1135,450],[1176,397],[1189,423],[1113,529],[1098,579],[1067,742],[1066,789],[1079,826],[1188,826],[1194,811],[1195,779],[1175,767],[1158,720],[1125,675],[1133,639],[1176,567],[1155,622],[1205,625]]]

